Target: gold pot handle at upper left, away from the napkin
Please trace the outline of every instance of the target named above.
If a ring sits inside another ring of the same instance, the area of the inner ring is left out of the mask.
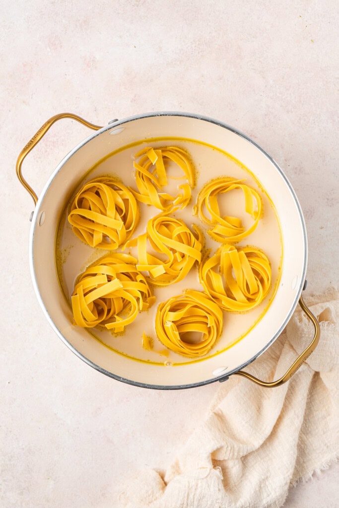
[[[86,127],[89,127],[89,129],[93,129],[95,131],[99,131],[101,127],[99,125],[95,125],[94,123],[87,122],[87,120],[84,120],[78,115],[74,115],[73,113],[59,113],[57,115],[52,116],[47,122],[45,122],[39,129],[39,131],[33,136],[31,140],[28,141],[26,146],[21,150],[18,160],[16,162],[16,175],[19,178],[20,183],[25,187],[25,189],[28,191],[30,196],[32,196],[34,204],[36,205],[38,202],[38,196],[34,192],[33,188],[28,185],[26,180],[22,176],[21,172],[21,166],[23,163],[23,160],[26,155],[32,150],[36,144],[39,143],[39,141],[45,136],[46,132],[49,130],[49,128],[55,123],[57,120],[60,120],[61,118],[72,118],[73,120],[76,120],[77,122],[82,123]]]

